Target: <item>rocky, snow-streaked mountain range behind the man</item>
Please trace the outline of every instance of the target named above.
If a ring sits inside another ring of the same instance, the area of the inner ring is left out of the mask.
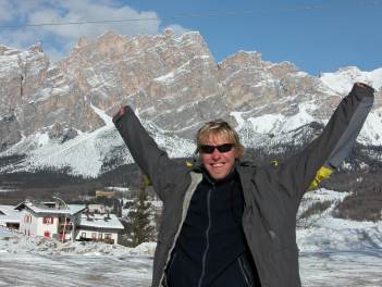
[[[382,68],[316,77],[245,51],[215,63],[198,33],[174,38],[170,29],[82,38],[54,65],[38,45],[27,51],[0,46],[0,160],[23,155],[0,164],[0,173],[70,167],[97,176],[131,163],[111,123],[124,103],[171,157],[193,155],[196,129],[217,117],[231,122],[247,147],[303,145],[315,132],[309,124],[324,124],[354,82],[381,96]],[[381,134],[377,101],[359,141],[381,146]]]

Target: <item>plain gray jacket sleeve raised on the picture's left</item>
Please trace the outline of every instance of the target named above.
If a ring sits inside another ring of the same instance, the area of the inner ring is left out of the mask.
[[[125,114],[113,117],[113,123],[125,141],[134,161],[147,175],[162,201],[165,201],[173,185],[187,179],[187,169],[170,160],[148,135],[135,113],[126,107]],[[184,178],[186,177],[186,179]]]

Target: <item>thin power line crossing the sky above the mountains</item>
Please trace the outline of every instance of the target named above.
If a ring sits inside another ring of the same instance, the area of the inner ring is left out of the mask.
[[[372,1],[360,1],[359,5],[379,5],[382,4],[382,0]],[[224,17],[224,16],[246,16],[256,14],[274,14],[274,13],[291,13],[298,11],[312,11],[323,10],[330,8],[330,5],[307,5],[307,7],[295,7],[295,8],[283,8],[273,11],[238,11],[238,12],[210,12],[199,14],[178,14],[168,17],[140,17],[140,18],[121,18],[121,20],[95,20],[95,21],[76,21],[76,22],[48,22],[48,23],[36,23],[36,24],[21,24],[21,25],[0,25],[0,28],[23,28],[23,27],[42,27],[42,26],[66,26],[66,25],[86,25],[86,24],[111,24],[111,23],[126,23],[126,22],[147,22],[147,21],[170,21],[178,18],[201,18],[201,17]]]

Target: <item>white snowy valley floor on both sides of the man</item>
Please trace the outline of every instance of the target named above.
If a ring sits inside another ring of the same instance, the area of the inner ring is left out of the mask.
[[[312,202],[346,192],[308,192]],[[332,208],[297,229],[300,277],[305,287],[382,286],[382,222],[334,219]],[[99,242],[30,238],[0,227],[0,286],[150,286],[155,242],[137,248]]]

